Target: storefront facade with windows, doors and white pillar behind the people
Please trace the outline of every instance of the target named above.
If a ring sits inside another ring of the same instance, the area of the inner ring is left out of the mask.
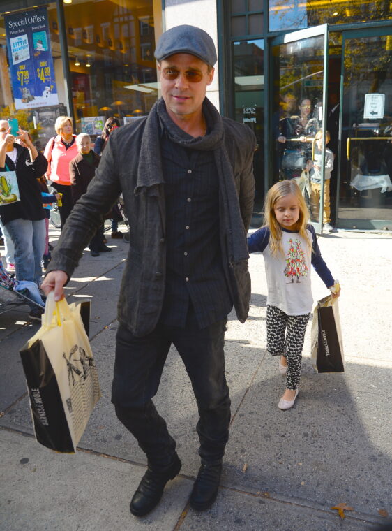
[[[17,117],[38,146],[59,115],[91,136],[109,116],[146,115],[159,96],[156,40],[194,24],[218,48],[209,99],[257,136],[255,211],[273,182],[295,178],[322,231],[306,168],[318,167],[323,182],[331,150],[332,224],[392,230],[391,0],[1,0],[0,8],[1,116]],[[326,131],[328,145],[317,145]]]

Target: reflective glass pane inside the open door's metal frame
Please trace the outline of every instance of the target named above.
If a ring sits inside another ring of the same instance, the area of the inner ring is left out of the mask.
[[[296,179],[310,205],[308,170],[322,129],[324,36],[275,45],[273,55],[273,180]],[[317,157],[319,157],[317,153]],[[312,209],[316,220],[316,208]]]

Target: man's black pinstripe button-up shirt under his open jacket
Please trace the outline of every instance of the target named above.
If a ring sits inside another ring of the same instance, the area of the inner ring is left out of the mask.
[[[190,305],[200,328],[232,310],[222,265],[218,171],[212,151],[161,139],[166,198],[166,288],[160,321],[185,326]]]

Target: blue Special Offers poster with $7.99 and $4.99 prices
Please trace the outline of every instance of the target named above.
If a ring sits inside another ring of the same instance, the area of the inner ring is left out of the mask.
[[[47,9],[4,15],[16,109],[57,105]]]

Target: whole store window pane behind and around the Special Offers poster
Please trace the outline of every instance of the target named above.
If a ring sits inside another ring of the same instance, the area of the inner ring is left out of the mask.
[[[56,3],[3,13],[0,71],[1,119],[16,118],[42,149],[67,113]]]

